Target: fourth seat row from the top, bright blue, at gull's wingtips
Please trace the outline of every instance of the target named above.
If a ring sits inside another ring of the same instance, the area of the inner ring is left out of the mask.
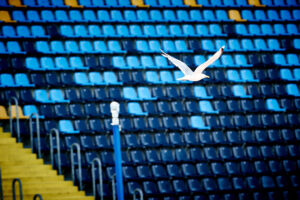
[[[300,49],[300,39],[295,39],[294,41],[294,47],[296,49]],[[187,44],[188,43],[188,44]],[[214,44],[215,43],[215,44]],[[253,44],[254,43],[254,44]],[[232,51],[284,51],[285,49],[280,47],[280,43],[277,39],[268,39],[266,45],[265,41],[261,38],[254,39],[253,42],[251,39],[242,39],[241,45],[239,44],[239,41],[236,39],[230,39],[228,40],[228,47],[225,48],[225,51],[232,52]],[[217,39],[215,41],[204,39],[201,40],[201,47],[200,43],[196,40],[191,40],[188,42],[185,42],[184,40],[136,40],[135,42],[136,51],[143,52],[143,53],[159,53],[160,49],[163,49],[166,52],[169,53],[179,53],[179,52],[185,52],[185,53],[191,53],[195,50],[189,49],[188,46],[198,47],[198,49],[207,51],[210,53],[213,53],[217,51],[222,46],[227,46],[226,40],[223,39]],[[6,48],[7,47],[7,48]],[[6,43],[6,47],[3,42],[0,42],[0,54],[24,54],[26,53],[21,49],[21,46],[17,41],[8,41]],[[36,42],[36,50],[34,47],[31,47],[30,49],[32,52],[37,51],[43,54],[111,54],[111,53],[126,53],[127,50],[123,49],[122,45],[117,40],[108,40],[107,42],[103,40],[96,40],[94,42],[90,42],[88,40],[82,40],[79,43],[77,43],[75,40],[67,40],[64,43],[62,41],[52,41],[50,42],[50,45],[47,41],[37,41]],[[130,56],[132,58],[134,56]],[[225,58],[224,58],[225,57]],[[223,64],[226,65],[226,63],[231,61],[225,61],[228,60],[229,57],[232,57],[231,55],[226,55],[221,57],[221,60],[223,61]],[[236,57],[243,57],[241,59],[246,61],[246,58],[244,55],[238,54]],[[299,64],[299,58],[295,54],[292,56],[293,58],[288,58],[290,62],[293,64]],[[149,56],[148,56],[149,58]],[[195,56],[195,58],[199,59],[205,59],[204,56]],[[295,59],[295,61],[291,61]],[[148,59],[149,60],[149,59]],[[200,61],[202,61],[200,60]],[[231,58],[232,60],[232,58]],[[242,61],[243,61],[242,60]],[[237,59],[237,63],[241,63],[242,61],[239,61]],[[283,55],[275,54],[274,55],[274,61],[275,62],[282,62],[286,63],[285,57]],[[199,63],[199,61],[197,61]],[[147,63],[146,63],[147,64]],[[276,63],[277,64],[277,63]],[[148,64],[149,65],[149,64]],[[227,64],[228,65],[228,64]],[[286,64],[284,64],[286,65]]]

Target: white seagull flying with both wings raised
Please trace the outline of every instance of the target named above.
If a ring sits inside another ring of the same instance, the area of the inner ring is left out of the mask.
[[[202,72],[213,62],[215,62],[223,53],[225,46],[222,46],[219,51],[217,51],[212,57],[210,57],[205,63],[199,65],[196,70],[193,72],[191,68],[189,68],[184,62],[170,56],[169,54],[165,53],[163,50],[162,56],[166,57],[171,61],[175,66],[177,66],[184,74],[183,77],[178,78],[177,80],[180,81],[200,81],[204,78],[209,78],[209,76],[203,74]]]

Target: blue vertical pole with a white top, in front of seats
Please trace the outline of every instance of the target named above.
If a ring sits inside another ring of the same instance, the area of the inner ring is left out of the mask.
[[[119,111],[120,104],[112,102],[110,104],[112,114],[112,131],[114,137],[114,152],[115,152],[115,170],[117,182],[117,198],[124,200],[123,176],[122,176],[122,151],[121,151],[121,136],[119,131]]]

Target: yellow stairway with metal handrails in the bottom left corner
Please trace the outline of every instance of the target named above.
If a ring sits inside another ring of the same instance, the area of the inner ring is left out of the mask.
[[[23,199],[33,200],[37,193],[43,200],[93,200],[85,196],[73,186],[72,181],[65,181],[62,175],[57,175],[51,165],[45,165],[31,149],[23,148],[10,133],[4,133],[0,127],[0,167],[2,171],[2,186],[4,200],[12,200],[12,181],[19,178],[22,181]],[[19,194],[16,183],[16,194]],[[19,197],[17,197],[19,199]]]

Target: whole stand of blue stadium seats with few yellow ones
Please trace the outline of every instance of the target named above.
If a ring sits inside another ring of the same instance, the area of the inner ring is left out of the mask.
[[[39,115],[44,155],[57,128],[66,174],[71,145],[80,144],[87,191],[99,157],[112,199],[115,100],[125,199],[136,188],[151,200],[300,199],[300,1],[0,0],[0,7],[1,124],[16,97],[22,137],[29,116]],[[183,74],[160,55],[195,69],[223,45],[200,82],[177,81]]]

